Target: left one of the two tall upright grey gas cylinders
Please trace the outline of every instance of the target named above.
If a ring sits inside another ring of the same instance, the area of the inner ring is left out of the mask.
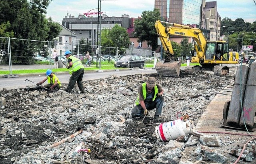
[[[244,99],[244,92],[246,89],[246,82],[249,72],[249,66],[245,63],[239,65],[236,71],[236,78],[232,91],[232,97],[228,109],[227,124],[232,127],[239,127],[241,116],[241,102],[240,98]],[[241,84],[241,85],[240,85]]]

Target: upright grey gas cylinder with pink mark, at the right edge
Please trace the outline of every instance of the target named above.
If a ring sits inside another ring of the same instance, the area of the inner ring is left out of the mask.
[[[247,78],[247,84],[246,89],[244,93],[244,101],[243,101],[243,108],[242,108],[242,114],[240,117],[240,127],[245,128],[244,123],[246,124],[246,127],[251,129],[254,124],[254,115],[256,111],[256,62],[252,62],[250,65],[248,78]]]

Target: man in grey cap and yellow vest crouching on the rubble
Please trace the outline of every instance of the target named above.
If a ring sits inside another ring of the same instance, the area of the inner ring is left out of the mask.
[[[161,85],[156,84],[154,77],[149,77],[146,83],[142,83],[138,89],[138,97],[135,101],[136,106],[132,110],[132,118],[144,117],[148,111],[156,108],[154,119],[160,120],[162,107],[164,104],[164,90]]]

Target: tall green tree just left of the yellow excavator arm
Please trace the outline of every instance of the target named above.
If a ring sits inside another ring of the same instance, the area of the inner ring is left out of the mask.
[[[134,36],[138,38],[139,42],[147,41],[148,45],[152,46],[152,51],[158,48],[157,32],[155,28],[156,20],[160,20],[159,9],[153,11],[143,11],[141,19],[135,20]]]

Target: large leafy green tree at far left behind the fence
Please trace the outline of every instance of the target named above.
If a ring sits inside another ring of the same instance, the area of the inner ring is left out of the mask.
[[[49,47],[45,43],[33,43],[28,40],[54,41],[60,33],[60,26],[45,18],[46,9],[52,0],[1,0],[0,23],[2,28],[0,36],[8,34],[10,37],[23,39],[14,40],[12,49],[17,49],[12,63],[31,64],[33,52],[38,51],[48,56]],[[8,26],[8,22],[11,26]],[[2,26],[3,27],[3,26]],[[14,35],[10,35],[10,34]],[[51,45],[53,47],[54,44]],[[7,58],[8,59],[8,58]]]

